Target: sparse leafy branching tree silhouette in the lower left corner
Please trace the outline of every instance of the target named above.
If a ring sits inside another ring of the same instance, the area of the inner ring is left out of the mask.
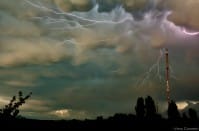
[[[10,103],[0,110],[0,117],[3,119],[16,118],[19,114],[19,107],[22,106],[31,95],[32,92],[23,97],[23,93],[19,91],[18,99],[16,99],[16,96],[13,96]]]

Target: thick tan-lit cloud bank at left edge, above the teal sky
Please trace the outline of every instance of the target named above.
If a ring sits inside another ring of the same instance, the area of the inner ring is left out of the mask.
[[[67,58],[67,48],[52,39],[1,39],[0,65],[49,64]]]

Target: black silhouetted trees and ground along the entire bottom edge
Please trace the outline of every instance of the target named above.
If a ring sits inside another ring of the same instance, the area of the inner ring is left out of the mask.
[[[19,107],[30,98],[32,93],[18,98],[13,96],[10,103],[0,110],[0,123],[10,128],[66,128],[66,129],[158,129],[158,130],[199,130],[197,112],[190,108],[187,113],[180,114],[174,101],[170,101],[167,109],[168,118],[158,113],[157,105],[151,96],[139,97],[135,105],[136,114],[117,113],[114,116],[95,120],[32,120],[19,117]]]

